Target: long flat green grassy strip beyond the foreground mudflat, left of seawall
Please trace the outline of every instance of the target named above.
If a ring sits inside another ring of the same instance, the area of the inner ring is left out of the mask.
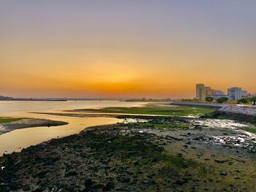
[[[205,115],[215,109],[203,107],[105,107],[103,109],[75,110],[76,112],[106,112],[141,115]]]

